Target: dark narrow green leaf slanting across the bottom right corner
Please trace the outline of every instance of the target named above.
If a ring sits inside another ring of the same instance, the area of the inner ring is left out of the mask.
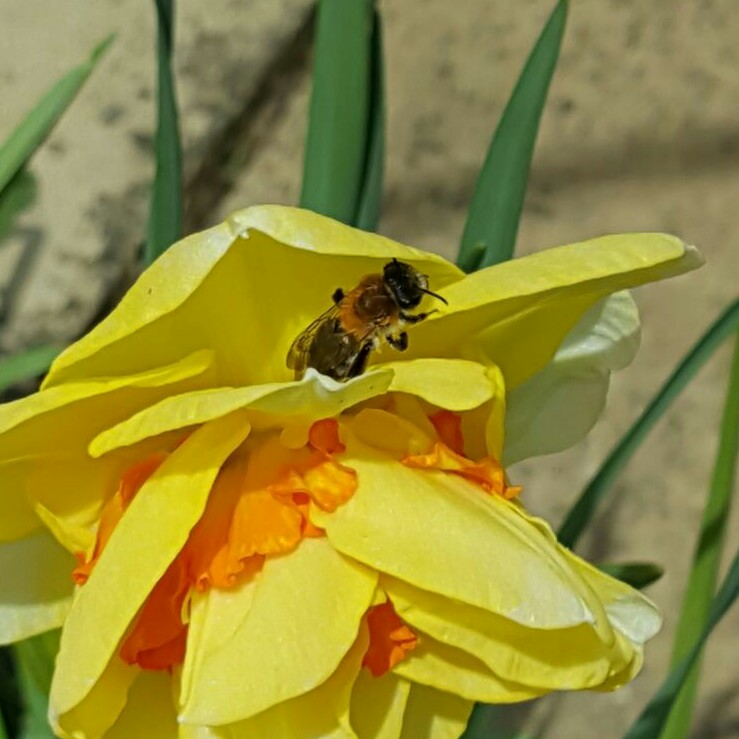
[[[657,739],[660,736],[677,694],[700,656],[706,640],[716,624],[731,608],[737,596],[739,596],[739,552],[731,563],[729,574],[726,576],[721,589],[713,599],[708,622],[702,629],[700,637],[693,644],[690,651],[672,668],[667,679],[662,683],[662,687],[649,701],[647,707],[624,736],[624,739]]]

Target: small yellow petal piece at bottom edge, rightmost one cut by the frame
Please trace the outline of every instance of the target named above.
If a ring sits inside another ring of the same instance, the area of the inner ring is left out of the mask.
[[[400,739],[458,739],[470,718],[474,703],[453,693],[425,685],[413,685]]]

